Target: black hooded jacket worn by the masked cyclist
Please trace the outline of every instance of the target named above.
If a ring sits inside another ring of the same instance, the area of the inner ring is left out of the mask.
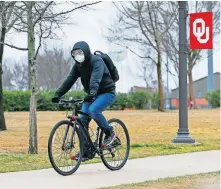
[[[84,52],[85,61],[82,64],[77,62],[74,64],[70,74],[56,91],[56,96],[61,97],[68,92],[78,77],[81,78],[84,90],[88,94],[115,93],[115,83],[102,58],[92,55],[88,44],[84,41],[76,43],[72,50],[75,49]]]

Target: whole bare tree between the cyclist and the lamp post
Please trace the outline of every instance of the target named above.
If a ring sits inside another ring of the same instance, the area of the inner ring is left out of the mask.
[[[162,41],[175,20],[169,14],[167,2],[127,2],[116,4],[119,11],[118,28],[111,29],[111,41],[118,41],[140,58],[148,58],[156,65],[158,78],[159,111],[164,111],[162,80]],[[130,44],[130,45],[128,45]],[[141,47],[143,52],[151,49],[153,55],[142,56],[134,49]],[[133,45],[133,48],[131,46]]]

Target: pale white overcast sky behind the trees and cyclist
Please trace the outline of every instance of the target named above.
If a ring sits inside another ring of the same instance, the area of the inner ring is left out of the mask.
[[[103,52],[110,52],[116,50],[116,45],[110,44],[105,35],[107,35],[107,27],[114,22],[116,18],[116,10],[112,2],[102,2],[94,6],[93,11],[76,11],[71,14],[71,18],[75,24],[67,25],[62,28],[62,31],[56,31],[60,40],[47,40],[48,48],[63,47],[67,54],[70,53],[71,47],[77,41],[86,41],[91,51],[101,50]],[[16,46],[27,47],[26,34],[9,33],[6,42],[12,43]],[[220,72],[220,44],[214,43],[214,72]],[[118,47],[118,50],[122,48]],[[117,82],[118,92],[128,92],[134,85],[145,86],[144,81],[138,77],[140,59],[128,51],[125,52],[125,58],[121,61],[115,61],[120,74],[120,80]],[[5,47],[4,60],[26,60],[26,51],[18,51]],[[11,61],[10,61],[11,62]],[[13,66],[13,65],[11,65]],[[163,80],[166,80],[165,67],[163,68]],[[194,67],[193,79],[199,79],[207,75],[207,51],[203,51],[201,61]],[[156,73],[155,73],[156,76]],[[65,78],[66,76],[64,76]],[[176,78],[175,78],[176,79]],[[176,81],[178,81],[176,79]],[[176,88],[174,77],[169,75],[169,88]]]

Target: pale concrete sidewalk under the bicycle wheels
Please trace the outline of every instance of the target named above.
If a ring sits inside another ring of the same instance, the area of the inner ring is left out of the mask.
[[[157,156],[128,160],[120,171],[109,171],[103,164],[82,165],[71,176],[53,169],[1,173],[1,189],[98,188],[127,183],[184,176],[220,170],[220,151]]]

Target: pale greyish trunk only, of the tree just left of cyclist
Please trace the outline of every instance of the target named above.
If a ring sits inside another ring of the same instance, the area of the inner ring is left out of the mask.
[[[32,18],[33,2],[26,2],[28,4],[28,63],[30,66],[30,84],[31,84],[31,99],[30,99],[30,115],[29,115],[29,153],[38,153],[38,140],[37,140],[37,118],[36,118],[36,105],[37,105],[37,87],[36,87],[36,59],[35,59],[35,34]]]

